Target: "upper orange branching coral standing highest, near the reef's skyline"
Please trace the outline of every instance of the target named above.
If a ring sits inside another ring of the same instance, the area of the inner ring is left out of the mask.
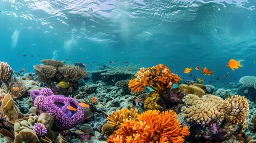
[[[136,78],[129,81],[131,91],[138,93],[144,91],[146,86],[156,92],[169,90],[174,83],[178,83],[181,78],[171,73],[164,64],[155,67],[142,68],[135,74]]]

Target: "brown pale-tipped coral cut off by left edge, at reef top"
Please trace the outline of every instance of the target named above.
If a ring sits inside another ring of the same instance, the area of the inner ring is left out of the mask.
[[[10,65],[6,62],[0,62],[0,82],[4,82],[6,84],[11,80],[11,76],[13,75],[13,69],[11,69]]]

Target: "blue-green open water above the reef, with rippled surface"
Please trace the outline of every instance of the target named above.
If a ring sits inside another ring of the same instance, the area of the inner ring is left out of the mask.
[[[180,77],[238,81],[256,71],[256,1],[0,1],[0,60],[33,71],[40,60],[163,63]],[[19,56],[17,56],[19,55]],[[26,56],[23,56],[26,55]],[[33,55],[33,57],[32,57]],[[244,67],[232,71],[230,58]],[[195,67],[214,70],[205,76]],[[223,77],[224,78],[224,77]]]

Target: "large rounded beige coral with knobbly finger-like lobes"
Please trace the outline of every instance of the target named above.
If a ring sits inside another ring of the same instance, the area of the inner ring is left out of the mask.
[[[216,122],[220,125],[224,120],[223,99],[215,95],[197,95],[189,94],[184,97],[186,103],[183,109],[184,117],[190,124],[201,124],[210,126]]]

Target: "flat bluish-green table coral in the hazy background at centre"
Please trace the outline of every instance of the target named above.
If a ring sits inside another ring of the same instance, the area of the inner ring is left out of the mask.
[[[134,74],[134,71],[138,70],[139,66],[134,64],[128,64],[128,66],[110,66],[110,65],[104,65],[107,72],[106,73],[100,73],[101,76],[117,76],[117,75],[131,75]]]

